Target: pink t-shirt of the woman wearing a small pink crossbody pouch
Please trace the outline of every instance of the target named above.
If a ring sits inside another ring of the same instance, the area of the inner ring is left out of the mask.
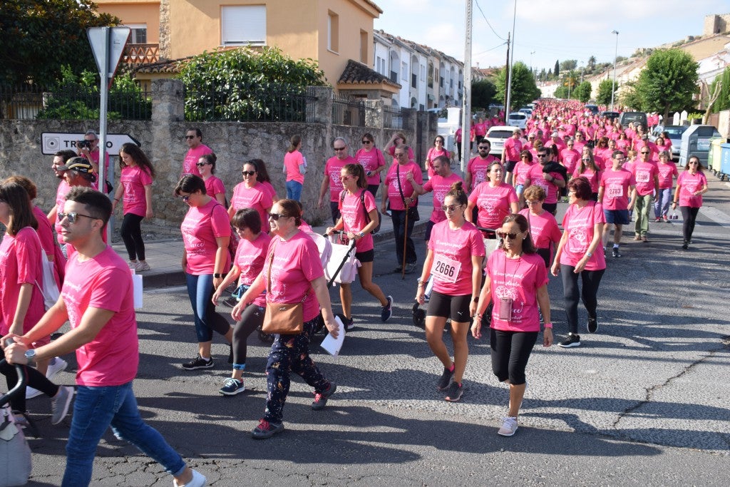
[[[504,250],[496,250],[487,259],[491,279],[491,327],[502,331],[540,331],[537,290],[548,284],[548,269],[537,253],[523,253],[507,258]],[[512,300],[512,319],[499,319],[501,299]]]

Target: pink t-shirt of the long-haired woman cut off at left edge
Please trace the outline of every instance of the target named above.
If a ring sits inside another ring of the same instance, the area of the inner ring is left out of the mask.
[[[31,226],[15,236],[6,233],[0,242],[0,334],[7,334],[18,308],[20,285],[33,285],[31,302],[23,320],[23,333],[36,326],[45,312],[43,295],[36,283],[43,282],[41,241]]]

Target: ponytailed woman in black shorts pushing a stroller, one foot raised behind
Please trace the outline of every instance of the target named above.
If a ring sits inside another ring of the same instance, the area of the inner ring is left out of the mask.
[[[360,261],[358,277],[360,285],[380,302],[380,320],[385,323],[393,315],[393,298],[385,296],[380,286],[372,282],[372,263],[375,257],[372,230],[377,226],[377,204],[372,193],[367,191],[365,170],[360,164],[346,164],[340,169],[342,193],[339,195],[340,217],[334,226],[327,229],[327,234],[344,231],[349,242],[355,241],[355,257]],[[364,202],[364,204],[363,204]],[[350,284],[339,285],[339,299],[342,302],[342,313],[347,318],[345,329],[352,329],[353,291]]]

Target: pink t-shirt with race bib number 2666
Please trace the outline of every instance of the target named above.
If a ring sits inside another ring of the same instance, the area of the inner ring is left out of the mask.
[[[485,255],[477,227],[465,221],[461,229],[451,229],[448,221],[439,222],[431,229],[429,249],[434,253],[434,291],[448,296],[472,294],[472,256]],[[469,318],[465,316],[464,321]]]

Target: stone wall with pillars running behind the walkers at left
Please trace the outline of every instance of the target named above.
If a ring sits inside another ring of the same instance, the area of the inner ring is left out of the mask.
[[[226,185],[230,199],[234,185],[241,181],[244,161],[260,158],[265,161],[272,177],[274,188],[280,197],[286,195],[285,178],[282,172],[284,154],[289,139],[295,134],[302,137],[302,153],[307,158],[309,170],[304,180],[302,204],[312,221],[328,218],[328,206],[315,207],[323,168],[327,158],[333,155],[331,141],[334,137],[345,137],[350,142],[350,154],[361,147],[361,136],[365,132],[374,135],[377,147],[388,142],[394,129],[383,129],[382,121],[375,127],[351,127],[332,125],[331,88],[310,88],[310,94],[317,97],[314,123],[239,123],[201,122],[186,123],[183,115],[183,85],[177,80],[155,80],[152,85],[152,120],[110,120],[110,133],[129,134],[139,140],[142,150],[155,166],[157,177],[153,185],[153,206],[155,218],[145,221],[145,226],[177,227],[185,214],[185,204],[172,196],[174,186],[180,177],[180,164],[187,151],[185,131],[198,127],[203,132],[203,143],[210,146],[218,156],[216,175]],[[382,116],[382,110],[380,110]],[[437,119],[434,114],[419,112],[408,117],[407,126],[398,130],[410,141],[417,140],[416,124],[420,123],[418,135],[421,142],[412,144],[418,161],[426,155],[431,141],[436,136]],[[77,120],[0,120],[0,178],[12,174],[26,175],[38,186],[37,204],[48,211],[53,207],[58,180],[50,169],[51,156],[41,153],[42,132],[78,132],[95,130],[97,121]],[[420,156],[419,156],[420,154]],[[112,156],[115,166],[115,185],[118,184],[118,157]],[[388,164],[390,156],[386,155]],[[118,210],[119,211],[119,210]]]

